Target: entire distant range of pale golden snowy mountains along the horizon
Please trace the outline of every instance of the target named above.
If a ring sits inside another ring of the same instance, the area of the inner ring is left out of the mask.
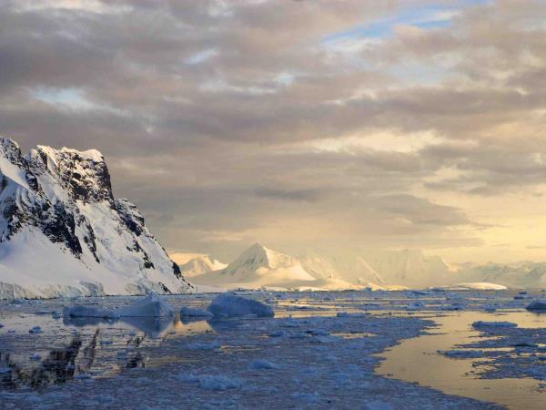
[[[199,256],[183,265],[182,272],[188,272],[197,285],[220,289],[546,288],[546,263],[450,266],[419,250],[369,251],[349,257],[307,253],[297,258],[256,243],[225,267],[214,269],[213,264],[223,265]]]

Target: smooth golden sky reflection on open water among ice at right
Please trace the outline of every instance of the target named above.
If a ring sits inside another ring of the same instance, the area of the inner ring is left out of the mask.
[[[430,334],[404,340],[379,354],[386,360],[376,369],[378,374],[430,386],[450,395],[507,405],[511,409],[543,410],[546,407],[546,393],[541,391],[541,383],[537,380],[480,379],[479,370],[474,367],[477,359],[452,359],[437,353],[461,343],[482,340],[481,333],[471,327],[476,321],[509,321],[520,327],[544,328],[546,317],[527,312],[461,312],[430,319],[438,324]]]

